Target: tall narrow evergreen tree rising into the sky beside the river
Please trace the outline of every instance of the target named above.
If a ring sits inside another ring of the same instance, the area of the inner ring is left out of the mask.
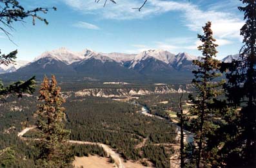
[[[216,129],[213,117],[215,117],[215,99],[222,93],[219,87],[222,86],[222,81],[214,81],[221,76],[217,71],[220,69],[220,62],[214,57],[217,54],[217,44],[214,44],[213,31],[211,29],[211,22],[207,22],[204,30],[204,35],[198,35],[202,45],[198,47],[202,51],[202,58],[200,60],[193,60],[193,65],[197,65],[197,70],[193,71],[195,78],[192,80],[195,87],[196,96],[190,94],[190,100],[193,106],[190,109],[193,117],[192,131],[195,133],[195,146],[192,151],[193,158],[191,164],[195,163],[196,167],[207,167],[208,158],[206,156],[207,150],[207,136],[212,134]]]

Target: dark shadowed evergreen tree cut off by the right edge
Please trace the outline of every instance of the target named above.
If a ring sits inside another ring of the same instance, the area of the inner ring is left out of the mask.
[[[237,135],[226,144],[230,149],[227,158],[229,167],[253,167],[256,165],[256,1],[241,0],[240,6],[246,23],[241,28],[244,36],[239,59],[223,64],[228,69],[224,85],[230,106],[241,108],[237,120]]]

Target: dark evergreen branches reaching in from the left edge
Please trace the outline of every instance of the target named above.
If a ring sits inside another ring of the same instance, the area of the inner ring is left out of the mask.
[[[10,31],[15,28],[12,26],[13,22],[24,22],[23,20],[27,17],[32,17],[33,24],[35,24],[35,19],[43,21],[45,24],[48,24],[46,19],[43,19],[38,15],[39,12],[47,13],[51,8],[35,8],[33,10],[25,10],[19,1],[16,0],[2,0],[0,1],[0,31],[6,34],[10,39]],[[52,8],[56,10],[56,8]],[[5,55],[1,53],[0,49],[0,64],[10,65],[10,63],[15,63],[17,55],[17,50],[12,51],[11,53]],[[15,94],[19,97],[23,93],[32,94],[34,92],[35,77],[30,78],[27,81],[17,81],[12,85],[5,87],[3,82],[0,80],[0,99],[4,99],[5,96],[9,94]]]

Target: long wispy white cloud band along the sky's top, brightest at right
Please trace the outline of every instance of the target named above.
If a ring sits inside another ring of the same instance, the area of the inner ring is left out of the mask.
[[[102,3],[95,3],[93,0],[61,0],[75,10],[83,13],[99,15],[105,19],[143,19],[144,17],[152,17],[166,12],[181,12],[182,22],[192,31],[201,32],[202,26],[207,21],[212,21],[212,29],[217,38],[239,38],[240,28],[244,24],[241,19],[236,18],[234,13],[222,12],[215,10],[201,10],[192,2],[187,1],[163,1],[150,0],[144,6],[141,12],[133,9],[141,6],[142,1],[139,0],[123,0],[117,4],[108,1],[103,7]],[[230,0],[232,3],[232,1]]]

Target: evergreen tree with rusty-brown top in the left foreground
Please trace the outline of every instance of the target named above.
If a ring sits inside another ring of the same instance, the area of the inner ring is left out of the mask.
[[[52,81],[45,77],[39,92],[42,104],[36,113],[41,155],[37,163],[40,167],[67,167],[72,160],[68,145],[70,131],[64,130],[66,116],[61,107],[64,98],[55,76]]]

